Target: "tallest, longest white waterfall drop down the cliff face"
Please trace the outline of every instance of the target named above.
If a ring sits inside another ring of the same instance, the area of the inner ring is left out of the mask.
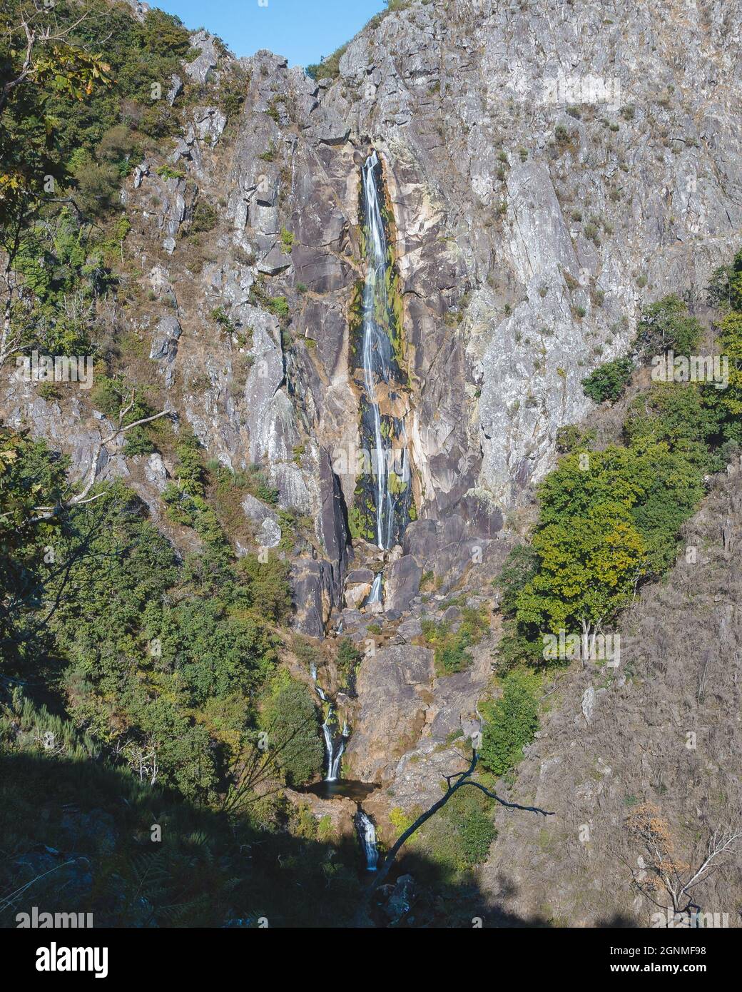
[[[395,524],[404,524],[410,505],[410,462],[407,447],[401,451],[401,463],[395,452],[395,434],[402,434],[404,425],[382,415],[379,405],[379,384],[385,384],[391,396],[397,373],[396,359],[390,337],[391,321],[387,276],[391,266],[387,236],[382,216],[379,182],[379,157],[372,152],[363,165],[363,204],[366,232],[368,273],[362,298],[362,358],[363,382],[368,405],[362,415],[364,434],[372,444],[372,497],[376,516],[376,544],[382,551],[390,549],[396,538]],[[379,585],[379,602],[381,586]]]

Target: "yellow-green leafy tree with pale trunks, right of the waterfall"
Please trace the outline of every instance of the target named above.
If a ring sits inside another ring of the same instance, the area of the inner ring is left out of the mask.
[[[701,473],[692,451],[651,436],[563,457],[538,489],[540,560],[516,598],[521,633],[536,641],[577,627],[591,657],[603,624],[674,559],[704,492]]]

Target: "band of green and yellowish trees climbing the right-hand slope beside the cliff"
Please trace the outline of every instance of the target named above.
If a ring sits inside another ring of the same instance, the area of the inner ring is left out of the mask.
[[[505,668],[543,664],[542,638],[559,630],[591,636],[617,619],[637,588],[674,562],[682,524],[739,444],[742,316],[717,322],[717,347],[729,357],[729,387],[654,383],[630,404],[624,443],[591,450],[595,436],[560,432],[566,453],[539,486],[540,517],[529,549],[516,548],[499,584],[506,631]],[[702,328],[678,297],[645,310],[637,345],[650,358],[692,349]]]

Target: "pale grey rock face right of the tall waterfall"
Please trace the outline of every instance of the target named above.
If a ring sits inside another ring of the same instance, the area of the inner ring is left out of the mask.
[[[516,501],[642,304],[730,255],[740,35],[738,8],[482,0],[414,3],[348,46],[319,97],[387,164],[427,515],[477,487]]]

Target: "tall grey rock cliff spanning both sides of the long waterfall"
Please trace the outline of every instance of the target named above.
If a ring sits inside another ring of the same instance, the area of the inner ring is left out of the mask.
[[[552,465],[556,429],[590,406],[580,380],[626,350],[642,304],[704,286],[740,227],[738,8],[400,6],[318,82],[194,36],[187,78],[235,76],[242,112],[225,131],[218,107],[190,108],[168,168],[141,163],[124,193],[157,298],[124,319],[165,396],[209,454],[266,459],[284,506],[322,506],[335,571],[355,486],[348,326],[370,147],[393,214],[421,518],[459,510],[491,529]],[[193,236],[199,202],[218,224]],[[32,396],[4,406],[51,430],[59,415]]]

